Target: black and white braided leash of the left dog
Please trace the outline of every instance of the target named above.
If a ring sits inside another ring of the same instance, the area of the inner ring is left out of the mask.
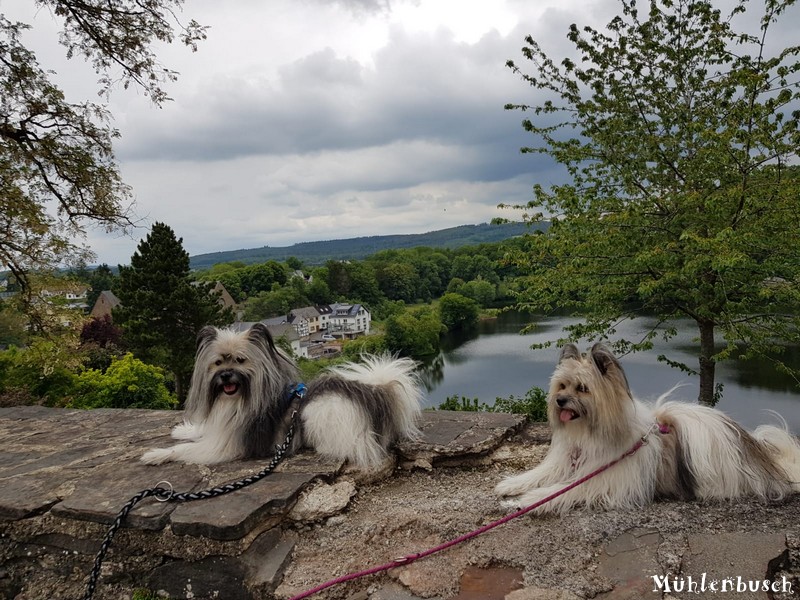
[[[304,384],[298,384],[291,390],[291,394],[293,398],[300,398],[302,399],[306,392],[306,386]],[[114,536],[117,533],[117,530],[122,526],[122,522],[128,516],[128,513],[133,510],[133,508],[145,498],[149,498],[150,496],[154,496],[156,500],[159,502],[191,502],[192,500],[205,500],[207,498],[216,498],[217,496],[223,496],[225,494],[229,494],[231,492],[235,492],[236,490],[240,490],[248,485],[252,485],[261,479],[264,479],[267,475],[272,473],[278,464],[283,460],[286,453],[289,451],[289,447],[291,446],[292,439],[294,438],[295,432],[295,425],[297,421],[297,410],[292,411],[291,421],[289,423],[289,429],[286,432],[286,437],[283,440],[283,443],[276,446],[275,454],[272,456],[272,460],[270,460],[269,464],[264,467],[261,471],[256,473],[255,475],[251,475],[250,477],[245,477],[244,479],[240,479],[238,481],[233,481],[230,483],[226,483],[219,487],[209,488],[207,490],[202,490],[199,492],[182,492],[180,494],[174,493],[172,489],[172,485],[166,481],[159,481],[156,484],[156,487],[150,488],[148,490],[142,490],[135,496],[133,496],[128,502],[122,507],[122,509],[117,513],[116,518],[114,519],[111,527],[109,527],[108,532],[106,533],[105,538],[103,539],[102,544],[100,544],[100,550],[97,553],[97,556],[94,559],[94,566],[92,567],[92,572],[89,574],[89,581],[86,584],[86,593],[83,595],[83,600],[92,600],[92,596],[94,596],[95,589],[97,588],[97,582],[100,579],[100,569],[103,566],[103,559],[105,555],[108,553],[109,548],[111,547],[111,542],[114,539]],[[159,487],[160,484],[166,483],[169,487]]]

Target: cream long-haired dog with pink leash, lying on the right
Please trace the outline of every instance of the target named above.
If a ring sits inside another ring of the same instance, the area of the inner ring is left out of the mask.
[[[572,412],[562,419],[564,408]],[[543,461],[496,486],[499,495],[513,497],[509,505],[529,506],[552,495],[619,458],[648,432],[636,453],[538,512],[631,509],[658,497],[779,499],[800,491],[800,443],[785,422],[750,434],[709,407],[666,397],[652,405],[635,400],[621,366],[600,345],[587,356],[574,347],[562,353],[551,379],[548,420],[552,441]]]

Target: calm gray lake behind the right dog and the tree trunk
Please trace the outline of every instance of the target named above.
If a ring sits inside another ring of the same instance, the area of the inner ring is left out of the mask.
[[[520,335],[519,331],[529,322],[536,323],[536,329]],[[439,355],[422,369],[428,389],[426,406],[437,407],[448,396],[480,398],[492,404],[498,396],[521,397],[533,386],[547,389],[560,349],[531,350],[530,346],[562,337],[564,325],[574,322],[577,319],[510,312],[481,321],[470,331],[448,334],[442,340]],[[638,339],[650,322],[646,317],[625,322],[617,328],[617,335]],[[657,360],[659,354],[665,354],[697,369],[699,345],[693,342],[697,329],[692,321],[686,320],[678,322],[678,330],[678,335],[668,342],[656,341],[653,350],[620,357],[637,398],[655,400],[681,384],[672,397],[697,401],[699,378]],[[637,333],[639,336],[634,337]],[[581,350],[590,346],[590,342],[579,344]],[[793,367],[800,367],[800,349],[791,349],[783,359]],[[768,359],[720,363],[716,383],[725,386],[717,408],[748,429],[761,423],[775,423],[775,417],[769,413],[772,410],[786,419],[795,435],[800,434],[800,388],[793,379],[778,373]]]

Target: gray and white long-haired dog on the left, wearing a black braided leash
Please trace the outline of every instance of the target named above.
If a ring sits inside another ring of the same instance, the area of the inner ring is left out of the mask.
[[[214,464],[272,456],[299,419],[290,452],[309,446],[363,469],[378,467],[389,447],[418,435],[421,391],[410,359],[363,357],[327,370],[305,398],[292,393],[297,366],[257,323],[244,332],[203,328],[186,400],[181,443],[146,452],[148,464]]]

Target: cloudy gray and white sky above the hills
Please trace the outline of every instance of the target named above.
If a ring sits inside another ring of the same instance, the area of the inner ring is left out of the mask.
[[[553,56],[571,23],[600,26],[616,0],[186,0],[181,20],[209,26],[193,53],[157,48],[179,72],[173,101],[135,88],[98,98],[97,75],[66,60],[59,23],[31,2],[0,12],[33,27],[23,41],[74,102],[104,102],[139,227],[89,230],[97,263],[128,264],[163,222],[190,255],[367,235],[422,233],[524,204],[559,183],[534,140],[525,64],[532,35]]]

